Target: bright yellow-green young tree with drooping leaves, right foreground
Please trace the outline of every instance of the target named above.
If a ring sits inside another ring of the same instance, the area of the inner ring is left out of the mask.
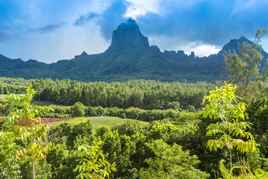
[[[215,136],[216,139],[207,141],[206,146],[210,150],[223,149],[225,146],[230,152],[230,171],[232,170],[232,151],[236,148],[245,153],[254,151],[257,147],[253,135],[246,131],[251,128],[251,123],[245,121],[244,111],[246,104],[239,102],[239,97],[234,92],[236,85],[225,83],[225,86],[209,92],[203,103],[207,101],[204,108],[204,117],[217,121],[207,127],[207,136]]]

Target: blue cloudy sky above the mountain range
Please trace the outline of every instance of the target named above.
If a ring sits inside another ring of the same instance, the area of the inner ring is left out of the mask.
[[[102,53],[132,18],[161,51],[208,56],[268,28],[267,9],[268,0],[0,0],[0,54],[52,63]],[[268,34],[261,44],[268,52]]]

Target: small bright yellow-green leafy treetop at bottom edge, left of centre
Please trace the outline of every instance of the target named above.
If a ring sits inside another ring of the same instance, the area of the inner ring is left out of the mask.
[[[81,178],[109,178],[111,171],[116,171],[115,163],[110,164],[105,160],[105,156],[100,149],[102,142],[93,141],[93,145],[81,145],[78,150],[74,152],[79,159],[79,165],[74,169],[75,172],[79,171],[76,176],[77,179]]]

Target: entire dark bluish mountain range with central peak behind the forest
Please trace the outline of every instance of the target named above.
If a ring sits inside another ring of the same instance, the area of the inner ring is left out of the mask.
[[[150,46],[135,20],[129,19],[113,31],[110,47],[101,54],[83,52],[70,60],[46,64],[36,60],[23,61],[0,55],[0,76],[52,79],[76,79],[79,81],[127,81],[130,79],[154,79],[160,81],[209,81],[224,74],[223,54],[229,49],[237,51],[237,42],[248,42],[246,37],[232,39],[220,52],[208,57],[197,57],[194,52],[161,52]],[[268,54],[262,50],[264,59]],[[265,60],[261,61],[262,66]]]

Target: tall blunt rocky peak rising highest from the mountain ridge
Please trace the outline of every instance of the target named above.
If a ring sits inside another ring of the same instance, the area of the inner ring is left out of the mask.
[[[127,23],[122,23],[113,31],[112,43],[107,51],[132,49],[149,49],[148,38],[143,36],[136,21],[129,18]]]

